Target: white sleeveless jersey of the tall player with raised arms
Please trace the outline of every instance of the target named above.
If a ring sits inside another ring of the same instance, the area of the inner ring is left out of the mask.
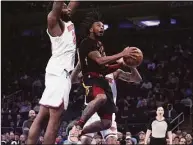
[[[64,32],[61,36],[50,37],[52,56],[48,61],[46,73],[61,75],[64,70],[70,72],[74,69],[75,52],[76,52],[76,35],[74,24],[64,23]]]

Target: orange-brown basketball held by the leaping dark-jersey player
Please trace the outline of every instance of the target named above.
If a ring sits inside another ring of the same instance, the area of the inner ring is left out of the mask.
[[[137,57],[136,60],[130,57],[123,57],[124,62],[128,65],[128,66],[139,66],[142,61],[143,61],[143,53],[142,51],[137,48],[137,47],[130,47],[131,48],[136,48],[137,49]]]

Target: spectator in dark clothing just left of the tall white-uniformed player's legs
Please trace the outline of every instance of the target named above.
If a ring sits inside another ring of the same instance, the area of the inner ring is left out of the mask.
[[[35,117],[36,117],[35,111],[30,110],[28,116],[29,116],[29,119],[24,121],[23,126],[22,126],[23,134],[25,136],[28,136],[29,129],[30,129]]]

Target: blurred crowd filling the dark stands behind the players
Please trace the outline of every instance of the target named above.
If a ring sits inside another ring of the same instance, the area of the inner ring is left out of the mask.
[[[107,29],[104,36],[107,54],[116,53],[128,45],[139,47],[144,53],[144,61],[138,67],[143,82],[128,84],[117,81],[116,121],[120,143],[143,144],[146,124],[155,116],[157,106],[164,106],[165,117],[169,120],[181,112],[186,116],[191,115],[193,33],[190,32],[162,31],[154,34],[148,30],[148,33],[131,35],[124,30],[117,32]],[[15,33],[10,42],[2,46],[1,139],[5,144],[24,144],[30,125],[39,111],[45,67],[51,52],[50,42],[44,29],[31,31],[28,35]],[[75,84],[56,139],[57,144],[65,142],[66,127],[80,116],[83,103],[82,87]],[[192,144],[192,137],[186,131],[176,131],[173,140],[175,144]],[[104,142],[100,134],[95,136],[94,141],[97,144]],[[43,132],[39,144],[42,142]]]

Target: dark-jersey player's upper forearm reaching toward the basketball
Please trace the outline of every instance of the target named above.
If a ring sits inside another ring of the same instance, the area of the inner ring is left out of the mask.
[[[99,65],[110,64],[123,57],[123,53],[118,53],[112,56],[99,57],[96,61]]]

